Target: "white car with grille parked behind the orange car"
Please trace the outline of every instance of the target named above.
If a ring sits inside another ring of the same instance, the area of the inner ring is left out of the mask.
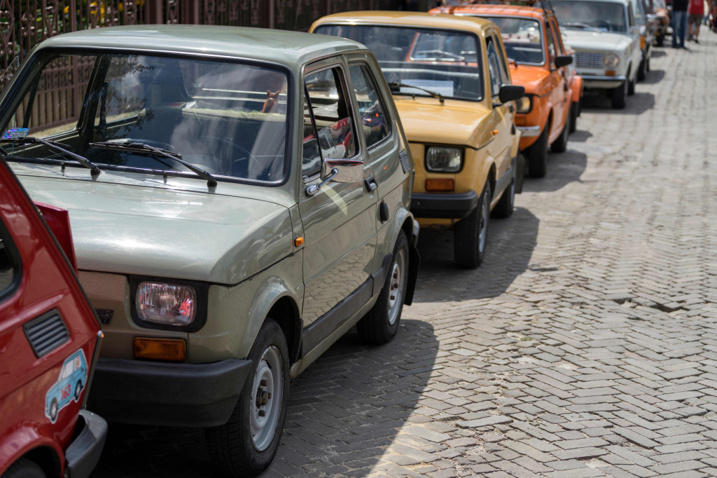
[[[575,50],[576,72],[588,90],[604,90],[613,108],[635,93],[642,62],[640,25],[630,0],[554,0],[563,39]]]

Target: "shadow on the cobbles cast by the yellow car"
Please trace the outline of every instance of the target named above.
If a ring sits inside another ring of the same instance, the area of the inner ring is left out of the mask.
[[[453,230],[422,229],[418,241],[421,270],[414,306],[503,294],[528,268],[537,235],[538,218],[523,207],[516,207],[507,219],[491,217],[483,263],[476,269],[463,269],[453,260]]]

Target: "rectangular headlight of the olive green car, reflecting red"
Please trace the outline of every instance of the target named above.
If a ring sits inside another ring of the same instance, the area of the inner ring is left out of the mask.
[[[135,306],[137,317],[146,322],[186,326],[196,317],[196,291],[179,284],[141,282]]]

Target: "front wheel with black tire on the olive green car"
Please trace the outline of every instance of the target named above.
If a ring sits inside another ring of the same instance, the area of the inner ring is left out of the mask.
[[[264,321],[247,358],[252,372],[232,416],[224,425],[205,430],[209,454],[232,477],[255,477],[267,469],[284,429],[289,352],[275,320]]]

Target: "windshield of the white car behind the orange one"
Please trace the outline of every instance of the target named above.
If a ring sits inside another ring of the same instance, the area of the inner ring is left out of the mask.
[[[627,33],[625,6],[607,1],[551,1],[561,28]]]

